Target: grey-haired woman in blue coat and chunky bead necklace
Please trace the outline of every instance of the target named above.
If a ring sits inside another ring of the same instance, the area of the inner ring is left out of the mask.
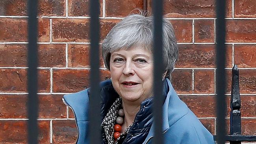
[[[101,83],[102,143],[150,144],[152,120],[153,18],[132,14],[121,20],[102,43],[111,80]],[[178,47],[171,23],[163,20],[164,144],[213,144],[213,136],[182,102],[171,85]],[[65,95],[78,127],[78,144],[88,143],[90,89]],[[83,111],[81,111],[83,109]]]

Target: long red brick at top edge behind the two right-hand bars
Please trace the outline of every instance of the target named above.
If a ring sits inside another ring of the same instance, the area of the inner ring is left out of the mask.
[[[152,0],[148,11],[152,13]],[[214,18],[215,0],[163,0],[163,14],[169,18]],[[232,0],[226,1],[226,16],[232,17]]]

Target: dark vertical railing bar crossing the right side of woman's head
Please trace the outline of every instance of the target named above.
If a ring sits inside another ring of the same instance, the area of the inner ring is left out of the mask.
[[[153,17],[154,17],[154,144],[163,144],[163,131],[162,131],[162,75],[163,75],[163,58],[162,58],[162,11],[163,11],[163,1],[154,0],[153,1]]]

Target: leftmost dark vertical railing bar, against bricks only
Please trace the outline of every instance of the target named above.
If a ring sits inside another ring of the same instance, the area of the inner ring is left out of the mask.
[[[37,0],[28,0],[28,143],[37,144]]]

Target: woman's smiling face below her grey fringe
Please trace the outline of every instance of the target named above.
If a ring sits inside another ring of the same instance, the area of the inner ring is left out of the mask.
[[[123,100],[141,103],[152,94],[152,53],[140,46],[115,51],[110,58],[110,74]]]

